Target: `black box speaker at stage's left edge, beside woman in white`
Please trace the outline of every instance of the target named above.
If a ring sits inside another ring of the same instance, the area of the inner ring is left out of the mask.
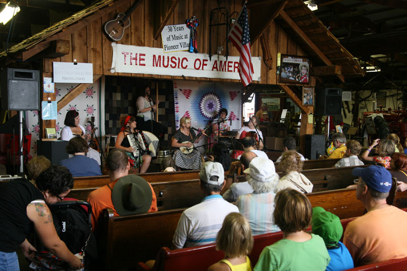
[[[61,160],[68,159],[67,145],[69,141],[52,140],[42,141],[37,140],[37,154],[43,155],[51,161],[51,165],[56,166]]]

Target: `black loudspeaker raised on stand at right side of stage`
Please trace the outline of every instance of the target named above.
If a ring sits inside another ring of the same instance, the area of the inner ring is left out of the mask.
[[[342,89],[319,89],[316,93],[315,111],[318,115],[342,115]]]

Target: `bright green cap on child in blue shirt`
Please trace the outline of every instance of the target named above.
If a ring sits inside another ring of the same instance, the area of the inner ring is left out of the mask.
[[[338,244],[343,233],[340,219],[322,207],[312,208],[312,233],[321,236],[327,247]]]

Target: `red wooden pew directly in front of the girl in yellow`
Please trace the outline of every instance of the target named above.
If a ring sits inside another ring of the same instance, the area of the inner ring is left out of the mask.
[[[346,228],[347,223],[354,220],[341,220],[342,227]],[[311,231],[311,228],[308,229]],[[283,232],[271,232],[253,236],[253,249],[249,255],[252,266],[257,263],[261,251],[267,246],[276,243],[283,238]],[[160,248],[157,253],[156,262],[153,268],[148,268],[142,262],[137,263],[137,270],[154,270],[154,271],[177,271],[177,270],[195,270],[205,271],[213,263],[224,258],[222,251],[216,251],[216,245],[210,244],[205,246],[170,250],[168,247]]]

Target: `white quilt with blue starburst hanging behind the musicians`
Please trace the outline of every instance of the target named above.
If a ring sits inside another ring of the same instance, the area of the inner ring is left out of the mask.
[[[230,130],[241,128],[242,84],[212,83],[198,81],[173,81],[176,129],[180,128],[180,119],[191,118],[193,128],[203,129],[208,121],[219,117],[219,110],[227,109]],[[198,145],[205,144],[203,137]]]

